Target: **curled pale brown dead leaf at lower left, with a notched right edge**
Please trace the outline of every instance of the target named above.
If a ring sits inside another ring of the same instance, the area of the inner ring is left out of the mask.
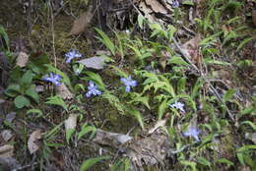
[[[41,131],[40,130],[36,130],[34,132],[32,132],[32,135],[30,136],[30,139],[28,141],[28,147],[29,147],[29,151],[32,153],[34,153],[36,150],[39,149],[38,144],[36,144],[36,141],[41,139]]]

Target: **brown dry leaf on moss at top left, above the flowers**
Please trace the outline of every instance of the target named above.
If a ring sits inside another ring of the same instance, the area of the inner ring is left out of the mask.
[[[92,8],[93,6],[90,6],[87,12],[83,13],[77,20],[74,21],[69,35],[81,33],[85,30],[85,28],[89,26],[91,20],[94,17],[92,14]]]

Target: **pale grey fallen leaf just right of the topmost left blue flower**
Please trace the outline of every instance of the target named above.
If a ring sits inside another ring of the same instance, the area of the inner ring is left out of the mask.
[[[78,61],[81,64],[84,64],[87,68],[93,68],[96,70],[101,70],[104,67],[104,58],[103,57],[91,57]]]

